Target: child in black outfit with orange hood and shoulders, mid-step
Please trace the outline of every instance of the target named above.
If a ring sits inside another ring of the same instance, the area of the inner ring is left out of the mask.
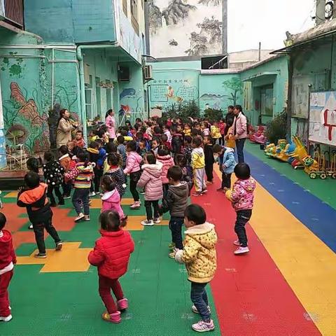
[[[38,253],[35,258],[46,258],[44,244],[44,229],[54,239],[56,251],[62,249],[62,240],[52,225],[52,211],[47,197],[48,186],[40,183],[40,177],[35,172],[25,175],[25,187],[19,189],[18,207],[26,208],[29,221],[33,225]]]

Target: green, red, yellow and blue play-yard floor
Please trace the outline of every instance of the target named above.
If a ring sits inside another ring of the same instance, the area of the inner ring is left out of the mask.
[[[217,326],[211,335],[336,335],[336,181],[313,181],[265,158],[258,146],[246,148],[258,181],[249,255],[232,254],[235,213],[216,185],[192,200],[207,209],[219,237],[218,272],[209,288]],[[190,324],[197,316],[190,311],[186,271],[167,257],[167,221],[143,228],[144,209],[131,212],[129,197],[123,207],[136,249],[122,279],[130,309],[120,325],[100,318],[97,270],[86,260],[99,237],[99,200],[90,223],[73,223],[69,201],[57,209],[54,223],[66,241],[64,251],[50,250],[46,260],[36,261],[25,212],[15,206],[15,193],[3,197],[20,258],[10,286],[14,318],[1,325],[0,335],[193,334]],[[50,237],[46,242],[53,247]]]

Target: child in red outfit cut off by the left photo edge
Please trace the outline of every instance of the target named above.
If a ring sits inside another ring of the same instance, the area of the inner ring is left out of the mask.
[[[4,230],[7,218],[0,212],[0,321],[9,322],[13,316],[10,311],[8,286],[13,277],[16,255],[10,231]]]

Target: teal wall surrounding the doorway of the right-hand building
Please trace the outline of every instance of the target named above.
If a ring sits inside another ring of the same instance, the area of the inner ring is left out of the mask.
[[[260,76],[262,73],[273,73],[274,76]],[[265,85],[273,85],[273,116],[281,113],[283,108],[287,106],[288,96],[288,58],[286,56],[276,57],[260,66],[256,66],[253,69],[248,69],[241,73],[241,80],[251,79],[252,92],[251,92],[251,110],[246,111],[250,123],[252,125],[259,125],[260,120],[260,88]],[[255,109],[255,102],[259,102],[259,109]],[[272,117],[262,116],[262,123],[266,124],[272,120]]]

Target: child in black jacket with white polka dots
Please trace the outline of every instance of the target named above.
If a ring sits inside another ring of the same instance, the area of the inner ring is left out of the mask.
[[[43,175],[45,182],[48,184],[47,196],[50,199],[50,207],[57,206],[53,194],[54,190],[58,198],[58,205],[64,205],[64,198],[59,190],[59,187],[62,186],[64,180],[64,169],[59,165],[59,162],[55,160],[54,155],[51,152],[44,153],[44,160],[46,163],[43,165]]]

